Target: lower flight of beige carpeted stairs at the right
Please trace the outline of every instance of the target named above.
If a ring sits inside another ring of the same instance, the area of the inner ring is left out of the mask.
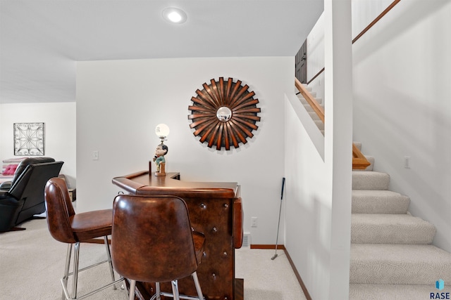
[[[431,244],[435,227],[409,214],[409,197],[388,190],[390,176],[368,159],[352,172],[350,300],[450,299],[451,254]]]

